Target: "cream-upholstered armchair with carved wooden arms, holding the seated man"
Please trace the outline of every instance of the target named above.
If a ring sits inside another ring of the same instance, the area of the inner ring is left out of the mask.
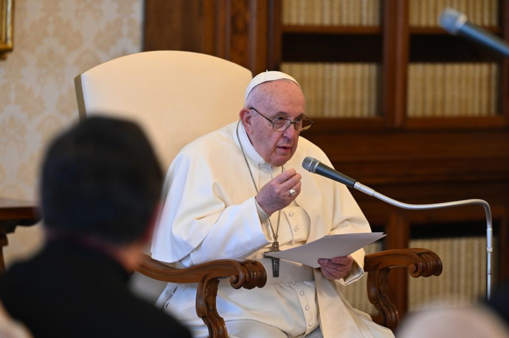
[[[81,118],[106,114],[137,121],[147,132],[161,164],[167,168],[182,146],[238,119],[251,72],[214,56],[152,51],[131,54],[98,65],[75,78]],[[216,260],[176,269],[144,256],[138,272],[173,283],[199,283],[196,313],[211,337],[227,337],[216,311],[219,279],[233,288],[263,287],[267,280],[256,261]],[[442,263],[424,249],[391,250],[366,256],[370,301],[382,312],[383,324],[394,328],[398,311],[387,298],[389,269],[408,267],[412,276],[438,275]]]

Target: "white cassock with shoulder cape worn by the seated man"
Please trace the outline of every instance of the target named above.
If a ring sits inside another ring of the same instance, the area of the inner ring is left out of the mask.
[[[256,190],[236,130],[234,122],[191,142],[169,167],[164,187],[166,200],[154,234],[152,257],[184,267],[215,259],[268,261],[270,276],[263,288],[235,290],[219,285],[217,311],[229,332],[238,323],[250,322],[254,327],[258,323],[276,327],[291,337],[305,336],[319,325],[313,334],[321,330],[325,338],[393,337],[390,330],[353,309],[336,288],[337,283],[347,285],[362,276],[362,249],[352,254],[352,270],[340,281],[329,281],[319,269],[302,266],[303,273],[291,281],[281,264],[280,273],[287,279],[284,283],[274,282],[270,259],[262,258],[263,252],[270,250],[273,235],[268,221],[260,221],[254,201]],[[282,169],[265,163],[250,144],[242,124],[238,133],[260,189]],[[328,234],[370,232],[362,211],[344,185],[302,169],[306,156],[331,166],[320,148],[299,138],[294,156],[284,167],[294,168],[302,175],[301,193],[281,210],[279,248],[286,250]],[[270,219],[275,230],[277,212]],[[307,277],[308,271],[311,278]],[[205,337],[208,331],[196,315],[195,297],[196,285],[168,284],[158,305],[187,324],[195,336]]]

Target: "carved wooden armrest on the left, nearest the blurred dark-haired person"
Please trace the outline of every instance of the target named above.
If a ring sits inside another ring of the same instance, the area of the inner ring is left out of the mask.
[[[262,288],[267,282],[262,263],[252,260],[219,259],[184,269],[168,266],[147,255],[142,255],[139,262],[136,271],[152,279],[169,283],[198,283],[196,314],[207,325],[210,338],[228,338],[224,320],[216,309],[219,279],[230,278],[235,289]]]

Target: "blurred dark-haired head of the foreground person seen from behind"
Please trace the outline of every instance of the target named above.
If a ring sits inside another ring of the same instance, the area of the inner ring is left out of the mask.
[[[130,265],[117,249],[138,250],[149,240],[162,179],[154,150],[134,122],[83,120],[51,142],[42,163],[48,238],[106,248]]]

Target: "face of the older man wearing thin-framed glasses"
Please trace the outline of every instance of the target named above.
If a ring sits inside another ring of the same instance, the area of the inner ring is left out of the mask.
[[[257,90],[256,110],[273,120],[275,117],[289,118],[294,121],[304,116],[305,100],[300,87],[292,81],[275,80],[264,82]],[[276,132],[272,124],[253,109],[249,109],[246,132],[254,149],[273,167],[288,162],[297,149],[299,132],[292,124],[283,132]]]

